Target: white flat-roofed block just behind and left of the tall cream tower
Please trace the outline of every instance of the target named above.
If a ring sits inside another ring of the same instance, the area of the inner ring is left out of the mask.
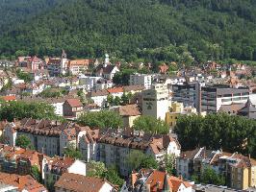
[[[134,74],[130,75],[130,85],[143,85],[146,89],[151,88],[152,76],[146,74]]]

